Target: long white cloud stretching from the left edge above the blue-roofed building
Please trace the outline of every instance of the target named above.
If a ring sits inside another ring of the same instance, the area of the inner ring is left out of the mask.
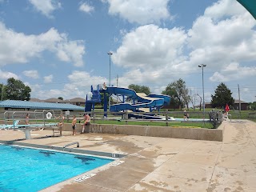
[[[74,66],[83,65],[83,41],[70,41],[66,34],[59,34],[54,28],[46,33],[26,35],[6,29],[0,22],[0,37],[0,66],[26,63],[30,58],[38,57],[46,50],[56,54],[63,62],[72,62]]]

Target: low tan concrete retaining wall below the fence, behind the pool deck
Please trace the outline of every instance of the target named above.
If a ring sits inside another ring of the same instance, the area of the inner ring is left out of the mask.
[[[65,124],[63,130],[72,131],[71,124]],[[77,133],[82,131],[82,126],[77,124]],[[186,138],[196,140],[222,142],[222,129],[202,128],[173,128],[170,126],[132,126],[132,125],[104,125],[90,124],[86,132],[101,134],[127,134],[162,138]]]

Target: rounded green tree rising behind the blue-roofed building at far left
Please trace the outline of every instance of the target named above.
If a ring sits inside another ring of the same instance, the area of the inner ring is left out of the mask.
[[[29,86],[14,78],[7,79],[7,85],[5,86],[6,99],[11,100],[30,100],[31,89]]]

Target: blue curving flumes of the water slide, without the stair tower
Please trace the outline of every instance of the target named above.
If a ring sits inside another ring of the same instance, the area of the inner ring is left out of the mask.
[[[156,94],[151,94],[152,97],[138,95],[134,90],[122,88],[122,87],[107,87],[106,93],[108,94],[121,94],[127,97],[137,100],[137,104],[130,103],[118,103],[110,106],[111,112],[118,112],[120,110],[136,110],[138,108],[149,108],[155,106],[163,106],[165,104],[164,97],[156,97]],[[166,98],[166,102],[167,102]]]

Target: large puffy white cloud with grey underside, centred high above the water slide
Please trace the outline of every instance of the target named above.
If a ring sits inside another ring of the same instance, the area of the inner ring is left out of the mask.
[[[180,28],[140,26],[124,36],[112,58],[125,68],[158,69],[180,59],[185,42],[186,33]]]

